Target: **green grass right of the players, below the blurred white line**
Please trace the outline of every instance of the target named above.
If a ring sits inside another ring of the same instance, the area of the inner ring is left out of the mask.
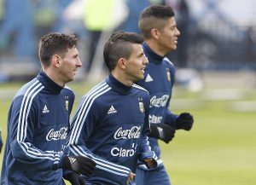
[[[179,130],[171,144],[161,143],[173,184],[255,184],[255,113],[193,114],[193,130]]]

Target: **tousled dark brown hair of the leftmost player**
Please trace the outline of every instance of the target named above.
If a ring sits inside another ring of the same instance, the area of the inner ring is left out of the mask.
[[[49,66],[53,55],[58,54],[64,57],[67,49],[77,46],[78,37],[75,33],[65,34],[50,32],[44,35],[39,42],[38,56],[44,66]]]

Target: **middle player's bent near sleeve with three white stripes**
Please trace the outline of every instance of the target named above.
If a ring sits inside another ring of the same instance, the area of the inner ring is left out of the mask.
[[[98,110],[94,108],[93,101],[90,101],[92,101],[90,96],[84,97],[73,117],[68,144],[70,153],[93,159],[96,162],[95,176],[112,179],[117,184],[126,184],[128,175],[131,172],[129,168],[123,165],[116,165],[107,159],[97,156],[84,144],[93,133],[97,123]]]

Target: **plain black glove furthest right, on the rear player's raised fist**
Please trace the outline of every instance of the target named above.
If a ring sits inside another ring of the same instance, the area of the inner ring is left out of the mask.
[[[181,113],[175,120],[176,129],[191,130],[194,123],[190,113]]]

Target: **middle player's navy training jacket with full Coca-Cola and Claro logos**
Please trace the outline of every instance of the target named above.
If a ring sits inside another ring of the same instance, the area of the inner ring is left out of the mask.
[[[137,159],[154,158],[148,146],[149,95],[137,84],[121,84],[109,75],[79,102],[70,151],[96,161],[89,184],[124,184]]]

